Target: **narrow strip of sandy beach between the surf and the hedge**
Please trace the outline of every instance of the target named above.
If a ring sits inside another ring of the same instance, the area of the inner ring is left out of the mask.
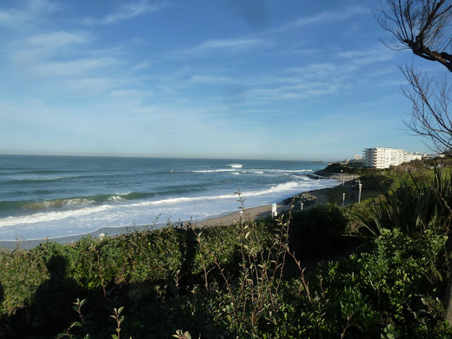
[[[311,206],[307,206],[305,209],[312,208],[319,204],[326,204],[326,190],[328,189],[319,189],[316,191],[308,191],[307,193],[316,197],[315,203]],[[252,208],[246,208],[244,214],[241,217],[240,210],[230,211],[222,213],[222,215],[211,216],[202,220],[191,220],[191,225],[195,227],[208,227],[213,225],[231,225],[235,220],[240,220],[240,218],[244,218],[246,220],[256,220],[259,218],[266,218],[271,215],[272,205],[263,205],[256,206]],[[283,212],[290,210],[290,205],[284,205],[283,202],[277,203],[276,208],[278,215],[281,215]],[[159,223],[155,225],[155,228],[165,227],[165,223]],[[150,227],[150,225],[137,225],[132,227],[105,227],[100,230],[96,230],[95,232],[87,233],[87,234],[79,234],[73,235],[69,237],[59,237],[54,239],[37,239],[37,240],[20,240],[16,242],[6,242],[0,241],[0,247],[7,247],[13,249],[15,247],[20,247],[21,249],[32,249],[33,247],[38,246],[39,244],[47,241],[58,242],[60,244],[71,244],[73,242],[77,242],[78,239],[82,237],[87,237],[90,235],[93,238],[98,238],[100,233],[105,233],[107,237],[114,237],[119,234],[123,234],[124,232],[128,232],[129,230],[144,230],[146,227]]]

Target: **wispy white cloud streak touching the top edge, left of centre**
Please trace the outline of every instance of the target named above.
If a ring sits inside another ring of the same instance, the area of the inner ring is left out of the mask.
[[[85,18],[85,25],[113,25],[119,21],[130,20],[147,13],[155,13],[165,8],[166,4],[149,4],[148,1],[140,1],[119,6],[116,11],[107,14],[103,18]]]

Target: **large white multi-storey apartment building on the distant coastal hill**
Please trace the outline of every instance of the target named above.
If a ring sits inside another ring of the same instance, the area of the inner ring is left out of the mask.
[[[389,166],[398,166],[403,162],[422,159],[419,153],[408,153],[398,148],[376,147],[365,148],[363,152],[364,166],[373,168],[389,168]]]

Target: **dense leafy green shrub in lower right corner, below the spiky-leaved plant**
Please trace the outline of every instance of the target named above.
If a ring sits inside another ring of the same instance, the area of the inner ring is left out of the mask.
[[[432,232],[408,237],[384,230],[374,249],[329,263],[318,273],[317,293],[328,300],[330,321],[344,323],[352,338],[439,338],[447,275],[446,237]],[[438,263],[440,263],[438,265]],[[408,326],[408,323],[410,324]],[[384,336],[386,335],[386,337]]]

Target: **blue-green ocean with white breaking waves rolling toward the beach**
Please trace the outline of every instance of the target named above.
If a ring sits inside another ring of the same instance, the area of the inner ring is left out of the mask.
[[[0,241],[203,220],[338,183],[311,161],[0,155]]]

